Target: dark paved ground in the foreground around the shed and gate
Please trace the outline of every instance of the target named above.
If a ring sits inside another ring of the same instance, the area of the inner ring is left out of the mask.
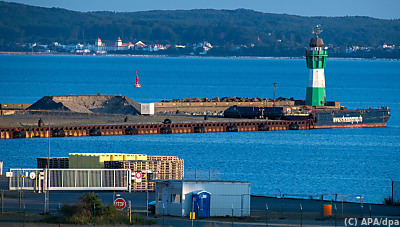
[[[78,192],[50,192],[50,211],[57,212],[57,208],[63,204],[75,204],[77,199],[82,196],[82,191]],[[97,193],[97,192],[96,192]],[[132,202],[134,212],[146,216],[147,201],[154,200],[154,193],[149,193],[147,200],[146,193],[113,193],[98,192],[103,204],[112,204],[114,198],[122,197],[126,201]],[[25,220],[36,220],[41,218],[37,214],[44,211],[44,194],[24,192],[22,198],[18,192],[7,191],[4,201],[2,201],[2,210],[9,214],[10,212],[19,212],[24,210],[28,214]],[[268,210],[266,210],[266,204]],[[302,210],[300,209],[303,208]],[[332,204],[333,217],[322,217],[322,205]],[[336,213],[335,213],[336,205]],[[35,215],[34,215],[35,214]],[[370,217],[389,217],[399,220],[400,207],[384,206],[377,204],[357,204],[341,203],[320,200],[306,199],[282,199],[271,197],[252,196],[251,198],[251,217],[240,218],[213,218],[194,220],[193,226],[344,226],[345,218],[368,218]],[[154,217],[159,226],[192,226],[191,220],[177,217]],[[359,219],[362,220],[362,219]],[[23,226],[24,216],[21,215],[0,215],[0,226]],[[43,224],[25,224],[25,226],[58,226]]]

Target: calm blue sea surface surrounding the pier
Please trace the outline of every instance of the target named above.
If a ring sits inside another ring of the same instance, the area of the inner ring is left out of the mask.
[[[135,70],[142,88],[135,89]],[[347,107],[389,106],[386,128],[53,138],[51,156],[70,152],[178,155],[187,176],[213,170],[250,181],[252,194],[364,195],[380,203],[400,180],[400,62],[329,60],[327,99]],[[121,94],[138,102],[273,95],[304,99],[305,60],[0,55],[0,103],[45,95]],[[36,167],[48,140],[0,140],[5,169]],[[356,196],[345,196],[356,201]]]

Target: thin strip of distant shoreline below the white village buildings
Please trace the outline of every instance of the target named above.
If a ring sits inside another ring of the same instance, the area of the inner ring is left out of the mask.
[[[273,56],[199,56],[199,55],[131,55],[131,54],[70,54],[46,52],[8,52],[0,51],[0,55],[36,55],[36,56],[99,56],[99,57],[145,57],[145,58],[223,58],[223,59],[269,59],[269,60],[303,60],[302,57],[273,57]],[[329,57],[329,56],[328,56]],[[397,58],[354,58],[354,57],[329,57],[330,60],[348,61],[400,61]]]

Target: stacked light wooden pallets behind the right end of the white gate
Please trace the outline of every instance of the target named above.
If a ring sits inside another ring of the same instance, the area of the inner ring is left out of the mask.
[[[131,169],[132,174],[140,172],[141,179],[132,178],[132,191],[154,191],[152,180],[182,180],[184,161],[178,156],[147,156],[147,160],[106,161],[106,169]]]

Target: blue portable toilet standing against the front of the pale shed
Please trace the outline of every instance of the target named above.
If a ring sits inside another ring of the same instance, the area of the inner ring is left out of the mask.
[[[210,217],[211,193],[204,190],[192,192],[192,206],[196,218]]]

